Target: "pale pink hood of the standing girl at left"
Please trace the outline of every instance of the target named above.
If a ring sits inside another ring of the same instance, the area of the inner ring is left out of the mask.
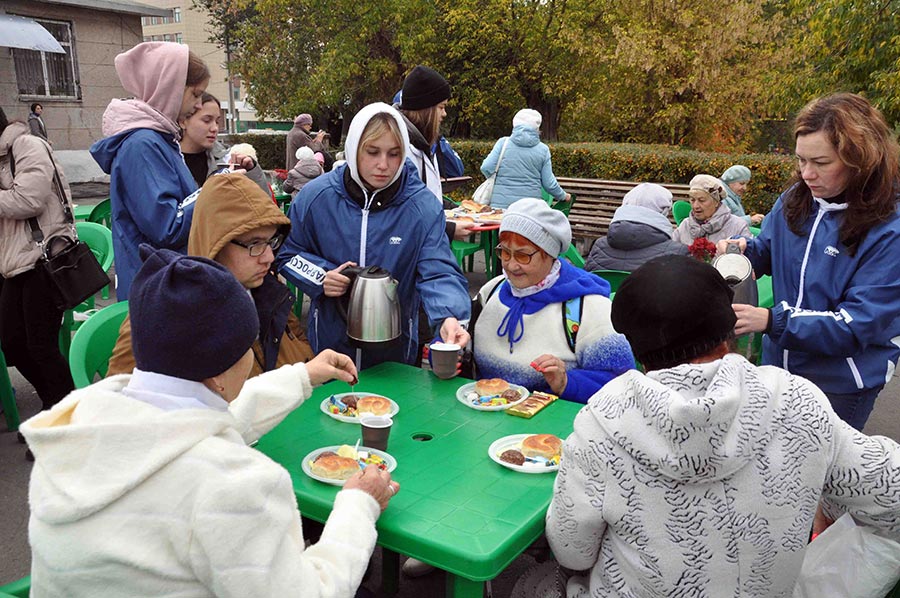
[[[177,121],[187,84],[188,47],[144,42],[116,56],[116,73],[133,99],[113,99],[103,113],[103,135],[153,129],[180,135]]]

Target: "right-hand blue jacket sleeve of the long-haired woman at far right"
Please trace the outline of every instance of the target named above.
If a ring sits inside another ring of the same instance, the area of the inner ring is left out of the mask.
[[[795,309],[784,301],[776,304],[769,332],[772,340],[786,349],[844,357],[900,336],[897,236],[885,235],[860,248],[865,253],[843,295],[834,298],[833,310]]]

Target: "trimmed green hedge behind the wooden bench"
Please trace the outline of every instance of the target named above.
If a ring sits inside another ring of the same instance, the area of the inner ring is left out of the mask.
[[[471,193],[484,180],[479,167],[494,142],[451,140],[451,144],[466,174],[475,179],[468,189]],[[794,161],[778,154],[722,154],[628,143],[554,143],[550,150],[553,173],[559,177],[686,184],[696,174],[719,176],[732,164],[743,164],[753,173],[743,197],[748,213],[768,212],[794,170]]]

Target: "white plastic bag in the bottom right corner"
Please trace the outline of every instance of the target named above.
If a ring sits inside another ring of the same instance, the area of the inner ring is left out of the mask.
[[[806,548],[794,598],[884,598],[900,580],[900,543],[849,514]]]

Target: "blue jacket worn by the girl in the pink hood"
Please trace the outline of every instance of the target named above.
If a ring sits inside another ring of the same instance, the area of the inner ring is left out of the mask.
[[[110,175],[116,298],[125,301],[141,267],[141,243],[187,250],[197,183],[178,143],[151,129],[101,139],[91,146],[91,155]]]

